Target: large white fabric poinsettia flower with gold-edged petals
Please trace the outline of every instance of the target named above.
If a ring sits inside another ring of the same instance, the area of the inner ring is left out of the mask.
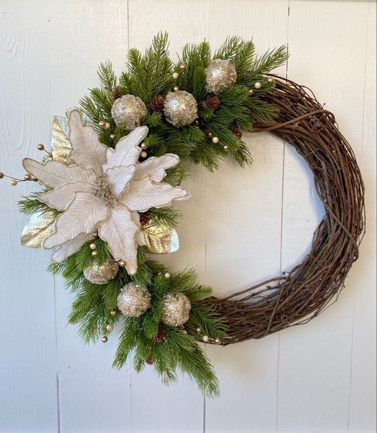
[[[93,239],[92,232],[98,230],[114,259],[124,260],[128,272],[134,274],[137,246],[145,243],[138,212],[190,196],[183,188],[161,182],[165,170],[177,165],[179,158],[167,153],[139,163],[146,126],[123,137],[115,149],[100,143],[96,131],[83,125],[78,109],[70,113],[69,129],[72,165],[23,161],[28,173],[53,188],[39,194],[38,200],[62,211],[43,247],[54,248],[51,259],[59,263]]]

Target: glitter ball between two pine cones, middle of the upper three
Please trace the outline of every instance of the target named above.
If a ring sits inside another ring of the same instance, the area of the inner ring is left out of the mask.
[[[194,122],[198,116],[198,104],[191,93],[177,90],[166,95],[163,112],[167,122],[180,128]]]

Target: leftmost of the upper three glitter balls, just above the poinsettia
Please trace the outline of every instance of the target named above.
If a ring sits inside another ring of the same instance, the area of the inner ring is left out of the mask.
[[[111,116],[117,125],[124,126],[128,131],[132,131],[144,116],[148,114],[145,104],[138,96],[123,95],[114,101],[111,107]]]

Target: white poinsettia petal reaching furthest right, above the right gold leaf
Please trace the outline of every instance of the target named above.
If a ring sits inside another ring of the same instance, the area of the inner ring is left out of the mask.
[[[130,210],[146,212],[151,207],[169,205],[172,200],[185,200],[190,194],[183,188],[165,183],[152,183],[151,179],[132,180],[128,190],[119,198],[120,203]]]

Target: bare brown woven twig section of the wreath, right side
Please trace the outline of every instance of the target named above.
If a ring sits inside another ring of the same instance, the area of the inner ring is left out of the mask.
[[[305,86],[278,78],[265,100],[279,108],[273,125],[259,125],[295,147],[314,174],[325,217],[310,252],[288,273],[225,298],[211,298],[229,324],[232,344],[307,323],[338,299],[365,230],[364,184],[334,115]]]

